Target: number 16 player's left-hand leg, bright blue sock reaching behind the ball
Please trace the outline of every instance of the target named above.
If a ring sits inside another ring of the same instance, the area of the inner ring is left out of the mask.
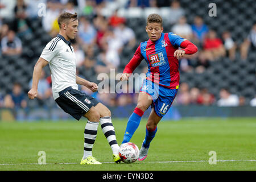
[[[138,104],[127,122],[122,144],[130,142],[131,137],[133,137],[134,132],[137,130],[139,123],[141,122],[141,117],[144,114],[144,111],[146,111],[151,104],[151,97],[148,96],[147,93],[140,92],[138,97]]]

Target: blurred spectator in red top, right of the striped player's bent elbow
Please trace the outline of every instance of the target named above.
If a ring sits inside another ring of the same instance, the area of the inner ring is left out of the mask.
[[[216,32],[210,30],[203,43],[206,59],[213,61],[219,57],[225,56],[225,48],[220,38],[217,38]]]

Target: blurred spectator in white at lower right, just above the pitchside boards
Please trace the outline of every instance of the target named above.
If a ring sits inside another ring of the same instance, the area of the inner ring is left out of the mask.
[[[231,94],[228,89],[220,90],[220,100],[217,101],[218,106],[238,106],[239,98],[235,94]]]

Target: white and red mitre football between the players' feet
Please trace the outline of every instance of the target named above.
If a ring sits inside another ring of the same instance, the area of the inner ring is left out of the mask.
[[[139,148],[131,142],[123,143],[119,148],[119,156],[124,163],[134,163],[139,158]]]

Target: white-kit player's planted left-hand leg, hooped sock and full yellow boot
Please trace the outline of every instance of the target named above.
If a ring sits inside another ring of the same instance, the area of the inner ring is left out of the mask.
[[[80,164],[101,164],[92,156],[92,148],[97,137],[100,113],[92,106],[90,110],[84,114],[84,117],[88,119],[88,122],[84,130],[84,156]]]

